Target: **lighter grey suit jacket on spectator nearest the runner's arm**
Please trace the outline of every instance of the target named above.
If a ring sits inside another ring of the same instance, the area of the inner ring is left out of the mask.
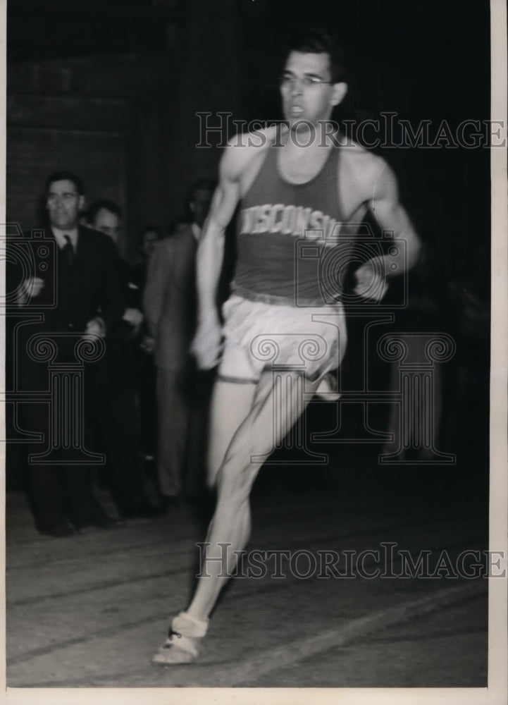
[[[191,228],[156,244],[148,267],[143,305],[155,338],[157,367],[182,370],[190,362],[196,320],[197,241]]]

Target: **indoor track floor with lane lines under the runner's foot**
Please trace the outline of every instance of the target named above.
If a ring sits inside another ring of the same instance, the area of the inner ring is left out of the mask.
[[[361,482],[359,472],[261,471],[249,548],[306,551],[295,565],[309,575],[283,563],[275,578],[266,561],[264,577],[230,581],[206,653],[175,668],[149,659],[190,596],[204,537],[195,508],[49,539],[35,533],[25,496],[8,493],[8,686],[486,687],[486,580],[446,568],[430,579],[366,577],[399,574],[398,554],[389,569],[383,543],[413,557],[430,551],[434,568],[443,551],[451,565],[481,551],[485,507],[436,472],[425,490],[421,470],[408,479],[364,468]],[[317,562],[310,570],[309,555],[347,550],[380,558],[367,557],[361,574],[353,567],[356,577],[319,577]]]

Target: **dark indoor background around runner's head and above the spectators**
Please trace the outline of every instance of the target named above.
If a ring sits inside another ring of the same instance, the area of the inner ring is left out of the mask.
[[[192,180],[216,178],[221,149],[194,147],[196,112],[280,117],[280,50],[295,23],[342,35],[351,66],[342,117],[394,111],[433,130],[488,119],[489,21],[487,0],[11,0],[8,217],[31,226],[44,178],[70,168],[89,201],[123,204],[132,259],[145,223],[166,226]],[[448,266],[471,266],[490,232],[488,150],[383,156],[423,238]]]

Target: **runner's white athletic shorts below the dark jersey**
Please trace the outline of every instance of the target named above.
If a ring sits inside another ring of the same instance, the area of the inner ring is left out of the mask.
[[[285,306],[233,294],[223,305],[224,349],[218,376],[258,382],[266,369],[284,369],[311,381],[337,369],[347,343],[342,304]]]

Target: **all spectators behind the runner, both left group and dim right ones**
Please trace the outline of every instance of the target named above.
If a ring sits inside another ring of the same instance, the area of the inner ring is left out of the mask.
[[[6,483],[27,491],[42,534],[67,537],[87,527],[152,520],[206,496],[213,373],[197,369],[190,343],[197,245],[214,187],[206,180],[192,184],[182,215],[167,228],[147,223],[128,263],[121,256],[128,237],[121,207],[105,198],[87,204],[80,178],[59,171],[44,185],[44,221],[8,242],[6,388],[15,395],[6,405],[6,426],[8,438],[18,438],[7,446]],[[486,260],[478,253],[478,262]],[[222,300],[233,259],[234,252],[226,257]],[[426,339],[414,331],[452,333],[457,353],[447,379],[435,366],[426,430],[451,448],[461,433],[464,386],[488,379],[488,282],[469,270],[447,281],[438,271],[427,253],[411,273],[408,305],[392,337],[407,346],[406,362],[421,367]],[[390,292],[387,300],[397,287]],[[93,355],[82,353],[85,344]],[[397,364],[385,383],[395,399]],[[445,404],[446,396],[452,403]],[[425,413],[418,407],[414,417]],[[416,427],[400,446],[401,414],[398,403],[389,405],[391,440],[383,453],[397,462],[431,462],[433,447],[414,443],[423,434]],[[104,510],[101,492],[109,492],[114,511]]]

